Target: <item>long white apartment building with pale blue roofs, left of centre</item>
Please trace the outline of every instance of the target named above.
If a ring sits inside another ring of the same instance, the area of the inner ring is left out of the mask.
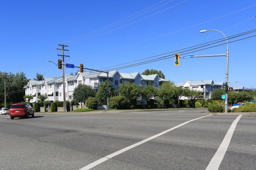
[[[92,86],[96,91],[100,82],[107,80],[107,73],[95,72],[89,73],[78,72],[77,75],[65,75],[65,94],[63,94],[63,79],[62,78],[45,78],[44,80],[30,80],[25,89],[25,95],[32,95],[33,99],[30,102],[38,102],[37,98],[40,94],[47,95],[46,100],[55,102],[63,101],[63,95],[66,97],[66,101],[69,101],[69,96],[73,94],[74,89],[79,83]],[[162,82],[167,80],[161,79],[157,74],[154,75],[141,75],[136,73],[120,73],[118,70],[109,71],[109,81],[115,85],[115,89],[119,89],[119,85],[122,82],[134,82],[136,85],[145,87],[146,85],[153,85],[159,88]],[[138,104],[143,103],[141,99],[138,100]]]

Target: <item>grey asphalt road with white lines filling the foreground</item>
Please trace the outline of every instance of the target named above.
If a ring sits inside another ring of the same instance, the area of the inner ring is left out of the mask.
[[[0,170],[256,170],[256,115],[205,112],[0,115]]]

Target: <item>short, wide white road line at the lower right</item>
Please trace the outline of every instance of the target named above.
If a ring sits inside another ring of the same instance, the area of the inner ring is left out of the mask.
[[[219,149],[211,159],[209,165],[207,166],[206,170],[218,170],[219,166],[221,165],[221,161],[226,153],[226,150],[228,149],[228,145],[230,143],[230,140],[232,138],[232,135],[235,131],[236,124],[241,118],[242,115],[239,115],[236,120],[231,124],[228,132],[226,133],[221,145],[219,146]]]

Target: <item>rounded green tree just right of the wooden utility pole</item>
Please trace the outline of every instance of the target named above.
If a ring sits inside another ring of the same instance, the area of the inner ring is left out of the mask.
[[[85,102],[89,97],[95,97],[95,90],[92,86],[78,84],[74,89],[73,99],[75,102]]]

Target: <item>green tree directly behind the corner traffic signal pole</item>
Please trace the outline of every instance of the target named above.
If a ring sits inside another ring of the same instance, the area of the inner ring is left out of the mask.
[[[98,86],[98,92],[96,94],[96,99],[98,100],[99,104],[107,104],[107,95],[105,95],[105,93],[107,93],[108,89],[111,91],[108,96],[109,98],[117,95],[117,90],[115,90],[114,84],[110,81],[103,81]]]

